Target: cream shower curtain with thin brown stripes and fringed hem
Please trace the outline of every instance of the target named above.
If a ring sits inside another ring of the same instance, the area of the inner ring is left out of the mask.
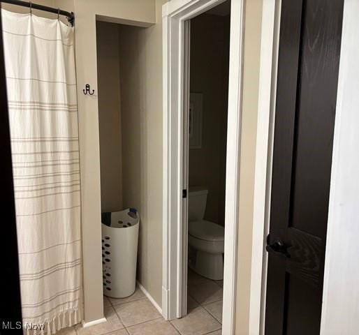
[[[22,317],[25,334],[54,334],[82,320],[73,28],[30,14],[1,15]]]

